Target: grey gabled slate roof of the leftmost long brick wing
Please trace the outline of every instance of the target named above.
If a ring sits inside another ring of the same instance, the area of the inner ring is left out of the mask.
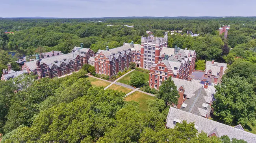
[[[57,65],[59,67],[62,63],[66,63],[67,64],[70,61],[74,61],[74,59],[78,55],[80,56],[80,52],[72,52],[72,53],[69,53],[69,54],[63,54],[63,55],[56,56],[56,57],[42,59],[42,60],[40,60],[40,63],[41,63],[41,65],[43,63],[45,63],[51,69],[51,67],[53,65]],[[33,70],[36,69],[36,61],[26,62],[25,64],[28,66],[30,71],[33,71]]]

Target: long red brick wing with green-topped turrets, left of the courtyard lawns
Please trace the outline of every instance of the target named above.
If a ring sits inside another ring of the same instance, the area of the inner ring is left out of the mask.
[[[81,43],[81,47],[74,47],[74,49],[77,50],[69,54],[43,59],[40,59],[40,55],[36,54],[36,60],[25,62],[22,70],[26,70],[29,74],[38,75],[39,79],[61,77],[79,71],[83,64],[88,63],[89,58],[94,56],[94,52],[91,49],[83,48],[83,43]]]

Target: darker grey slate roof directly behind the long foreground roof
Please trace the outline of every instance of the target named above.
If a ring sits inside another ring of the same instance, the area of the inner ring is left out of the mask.
[[[186,88],[185,88],[185,91],[186,91]],[[186,107],[181,109],[186,112],[196,114],[198,116],[206,117],[207,115],[207,117],[209,117],[211,112],[211,106],[207,103],[207,101],[204,98],[204,96],[208,98],[208,95],[204,90],[204,87],[200,87],[199,89],[197,89],[197,91],[193,92],[193,94],[195,95],[184,101],[183,104],[186,104]],[[211,99],[212,99],[212,96],[210,100]],[[206,107],[206,109],[204,109],[204,106]]]

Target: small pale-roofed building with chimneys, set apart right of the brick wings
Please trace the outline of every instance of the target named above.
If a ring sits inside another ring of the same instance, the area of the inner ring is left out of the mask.
[[[210,81],[210,83],[221,83],[224,71],[227,69],[226,63],[218,63],[214,60],[206,62],[206,68],[204,71],[195,70],[189,76],[188,80],[200,80],[201,82]]]

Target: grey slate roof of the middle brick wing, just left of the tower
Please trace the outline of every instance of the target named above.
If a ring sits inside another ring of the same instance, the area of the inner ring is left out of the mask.
[[[109,60],[112,60],[113,57],[118,58],[120,55],[123,57],[125,53],[126,55],[128,55],[132,50],[132,48],[134,48],[135,51],[137,52],[137,51],[140,51],[141,45],[134,44],[134,47],[131,47],[129,43],[124,43],[124,45],[122,45],[121,47],[109,49],[109,51],[99,49],[98,52],[96,52],[96,55],[102,52],[106,57],[109,58]]]

